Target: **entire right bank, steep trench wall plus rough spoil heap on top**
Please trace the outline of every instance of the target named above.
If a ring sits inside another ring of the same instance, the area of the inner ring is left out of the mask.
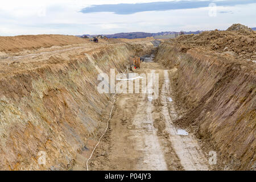
[[[255,32],[208,31],[164,42],[156,56],[178,69],[175,101],[186,111],[176,125],[218,151],[222,169],[255,169],[255,43]]]

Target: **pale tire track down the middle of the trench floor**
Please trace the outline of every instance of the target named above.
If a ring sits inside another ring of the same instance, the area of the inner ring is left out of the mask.
[[[151,73],[154,73],[151,70]],[[151,78],[151,77],[150,77]],[[148,84],[152,85],[153,79],[150,79]],[[167,170],[166,160],[164,159],[164,153],[160,146],[160,142],[157,136],[157,129],[154,127],[154,119],[152,115],[153,107],[151,102],[152,93],[143,94],[142,99],[139,101],[139,107],[137,113],[133,119],[133,125],[139,131],[136,140],[138,144],[138,150],[143,152],[143,160],[136,166],[137,170]],[[144,103],[146,100],[146,103]],[[141,117],[139,113],[143,113],[146,108],[146,117]],[[136,133],[134,133],[136,135]]]

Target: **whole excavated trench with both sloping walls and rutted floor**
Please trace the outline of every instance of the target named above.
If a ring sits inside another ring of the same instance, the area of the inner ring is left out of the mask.
[[[0,169],[254,169],[255,64],[159,43],[6,54]],[[144,58],[129,82],[141,80],[139,93],[98,93],[98,74],[126,73],[131,55]],[[148,73],[158,97],[142,93]]]

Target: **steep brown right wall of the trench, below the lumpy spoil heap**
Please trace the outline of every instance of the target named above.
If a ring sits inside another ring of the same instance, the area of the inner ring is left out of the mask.
[[[255,170],[256,65],[165,42],[156,61],[177,68],[172,77],[176,126],[216,152],[215,169]]]

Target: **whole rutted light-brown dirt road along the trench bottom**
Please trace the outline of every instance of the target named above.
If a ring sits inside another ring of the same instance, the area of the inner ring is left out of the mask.
[[[115,96],[109,129],[88,162],[89,170],[210,170],[199,141],[172,122],[180,116],[172,101],[175,71],[154,62],[136,69],[139,74],[158,73],[159,96],[154,99],[141,90]]]

